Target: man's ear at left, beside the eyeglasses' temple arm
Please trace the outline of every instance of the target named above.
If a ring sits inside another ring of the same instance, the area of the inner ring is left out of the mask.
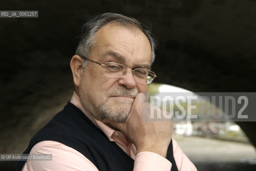
[[[73,74],[73,81],[76,87],[79,87],[82,77],[82,71],[84,69],[84,59],[78,55],[74,55],[70,61],[70,68]]]

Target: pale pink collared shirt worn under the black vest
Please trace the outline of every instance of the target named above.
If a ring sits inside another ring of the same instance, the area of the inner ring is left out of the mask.
[[[109,141],[116,142],[132,159],[134,159],[134,171],[137,170],[171,170],[171,162],[159,154],[153,152],[140,152],[136,155],[135,146],[119,131],[111,129],[103,122],[96,120],[88,114],[82,106],[79,97],[74,92],[71,103],[76,105],[84,114],[103,131]],[[178,170],[197,170],[189,158],[182,152],[174,138],[172,138],[174,149],[174,158]],[[30,154],[52,154],[51,161],[28,160],[22,171],[40,171],[40,170],[98,170],[93,163],[80,152],[55,141],[42,141],[34,145]]]

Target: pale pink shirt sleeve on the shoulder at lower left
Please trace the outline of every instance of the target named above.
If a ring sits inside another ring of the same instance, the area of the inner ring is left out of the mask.
[[[52,160],[28,160],[22,171],[99,171],[84,155],[69,146],[55,141],[37,143],[32,148],[30,154],[52,154]]]

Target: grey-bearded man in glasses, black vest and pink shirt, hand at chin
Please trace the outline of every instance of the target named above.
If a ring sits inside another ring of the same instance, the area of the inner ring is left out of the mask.
[[[171,120],[142,119],[150,108],[142,92],[156,77],[154,49],[133,18],[104,13],[88,21],[70,62],[71,102],[24,152],[52,161],[19,162],[17,170],[196,170],[171,138]]]

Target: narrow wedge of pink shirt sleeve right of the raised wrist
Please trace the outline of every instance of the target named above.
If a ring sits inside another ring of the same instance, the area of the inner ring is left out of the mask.
[[[174,159],[179,171],[197,171],[197,168],[183,153],[174,138],[172,138],[172,147],[174,149]]]

